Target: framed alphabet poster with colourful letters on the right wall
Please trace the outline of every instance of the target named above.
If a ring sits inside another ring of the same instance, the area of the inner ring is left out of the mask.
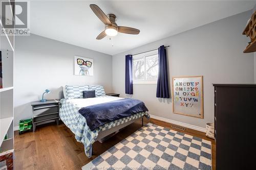
[[[204,118],[203,76],[173,77],[173,113]]]

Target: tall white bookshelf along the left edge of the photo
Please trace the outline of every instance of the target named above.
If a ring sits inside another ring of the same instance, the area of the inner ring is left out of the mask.
[[[1,1],[1,0],[0,0]],[[6,18],[12,20],[10,8]],[[0,14],[1,15],[1,14]],[[2,29],[2,20],[0,17]],[[13,28],[14,29],[14,28]],[[14,151],[13,140],[13,65],[14,65],[14,36],[0,36],[0,51],[2,54],[3,88],[0,89],[0,156]],[[7,135],[7,139],[5,136]]]

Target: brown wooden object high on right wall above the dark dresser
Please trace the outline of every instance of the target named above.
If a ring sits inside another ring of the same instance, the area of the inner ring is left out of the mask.
[[[256,52],[256,11],[251,15],[243,31],[243,35],[250,37],[250,42],[246,46],[244,53]]]

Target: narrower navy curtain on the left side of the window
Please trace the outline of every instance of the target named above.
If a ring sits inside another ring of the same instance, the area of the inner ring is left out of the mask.
[[[125,93],[133,94],[133,56],[125,56]]]

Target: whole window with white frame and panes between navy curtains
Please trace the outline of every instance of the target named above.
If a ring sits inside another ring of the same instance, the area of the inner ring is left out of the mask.
[[[156,84],[158,77],[158,50],[133,56],[133,83]]]

